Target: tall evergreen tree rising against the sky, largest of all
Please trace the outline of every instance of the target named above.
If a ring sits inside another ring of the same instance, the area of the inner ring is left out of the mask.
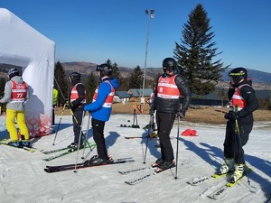
[[[184,23],[182,44],[175,42],[174,58],[178,62],[180,73],[191,88],[192,93],[207,95],[214,91],[224,71],[221,60],[213,61],[218,56],[216,42],[211,42],[215,36],[211,32],[210,19],[201,4],[198,4],[189,20]]]

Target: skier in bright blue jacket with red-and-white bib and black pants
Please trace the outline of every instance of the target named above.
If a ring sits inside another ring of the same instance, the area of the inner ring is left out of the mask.
[[[85,105],[84,110],[89,111],[92,116],[93,139],[97,145],[98,152],[98,155],[90,159],[90,164],[102,165],[112,161],[107,154],[104,128],[111,115],[112,102],[115,90],[118,88],[118,80],[117,78],[110,78],[113,69],[109,64],[98,65],[96,70],[101,81],[95,90],[92,103]]]

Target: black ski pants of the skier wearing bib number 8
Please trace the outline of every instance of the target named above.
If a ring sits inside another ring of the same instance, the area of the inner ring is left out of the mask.
[[[170,140],[170,134],[173,129],[173,123],[176,114],[156,112],[156,125],[161,146],[161,155],[164,161],[173,161],[173,145]]]

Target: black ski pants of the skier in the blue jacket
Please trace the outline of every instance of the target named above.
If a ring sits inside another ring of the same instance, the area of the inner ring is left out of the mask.
[[[91,125],[93,130],[93,139],[97,145],[98,157],[103,160],[108,160],[107,146],[104,136],[105,121],[99,121],[95,118],[91,118]]]

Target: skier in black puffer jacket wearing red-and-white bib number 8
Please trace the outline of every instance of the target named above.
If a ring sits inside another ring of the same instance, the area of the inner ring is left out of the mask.
[[[191,102],[190,88],[185,78],[178,73],[176,61],[173,58],[164,59],[163,70],[164,74],[156,82],[154,97],[161,157],[152,166],[158,167],[158,171],[164,171],[175,166],[170,133],[176,115],[183,118]],[[181,107],[180,97],[183,97]]]

